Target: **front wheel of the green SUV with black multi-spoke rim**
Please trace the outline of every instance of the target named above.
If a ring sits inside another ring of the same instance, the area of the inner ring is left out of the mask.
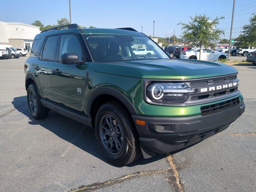
[[[106,159],[118,166],[132,163],[141,154],[134,122],[118,102],[100,107],[95,119],[95,136]]]

